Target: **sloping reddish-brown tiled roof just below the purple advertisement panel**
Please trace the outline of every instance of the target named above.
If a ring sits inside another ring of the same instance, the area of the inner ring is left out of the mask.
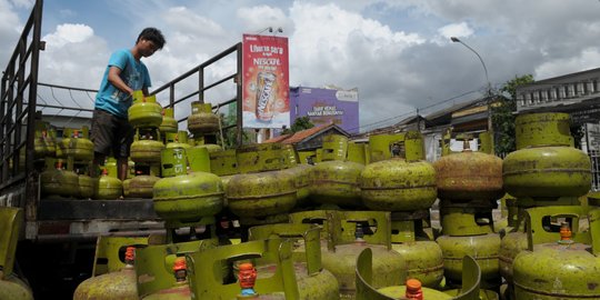
[[[280,142],[284,144],[293,144],[298,151],[314,150],[321,148],[323,143],[323,137],[329,134],[341,134],[350,137],[346,130],[341,129],[334,123],[327,123],[317,126],[302,131],[298,131],[290,134],[279,136],[264,142]]]

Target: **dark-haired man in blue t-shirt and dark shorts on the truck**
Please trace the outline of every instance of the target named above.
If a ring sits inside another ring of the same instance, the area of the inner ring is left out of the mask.
[[[150,76],[141,58],[152,56],[164,46],[164,37],[156,28],[146,28],[131,49],[112,53],[96,94],[90,139],[93,142],[93,170],[103,164],[112,152],[117,159],[118,177],[127,178],[129,148],[133,141],[133,128],[129,124],[127,110],[133,101],[133,91],[148,96]]]

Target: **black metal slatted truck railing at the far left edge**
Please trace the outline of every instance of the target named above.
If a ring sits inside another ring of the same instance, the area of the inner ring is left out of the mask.
[[[38,177],[28,174],[33,171],[38,64],[44,48],[41,19],[42,1],[37,0],[2,73],[0,93],[0,191],[26,182],[26,199],[38,198]]]

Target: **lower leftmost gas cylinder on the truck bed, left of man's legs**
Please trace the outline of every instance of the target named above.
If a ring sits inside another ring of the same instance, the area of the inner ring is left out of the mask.
[[[46,158],[46,171],[40,174],[43,196],[79,197],[79,177],[62,168],[62,160]]]

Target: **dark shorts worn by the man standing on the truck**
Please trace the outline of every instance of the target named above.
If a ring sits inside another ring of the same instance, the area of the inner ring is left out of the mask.
[[[110,112],[94,109],[90,130],[93,151],[114,158],[129,157],[133,142],[133,127],[127,119],[117,118]]]

